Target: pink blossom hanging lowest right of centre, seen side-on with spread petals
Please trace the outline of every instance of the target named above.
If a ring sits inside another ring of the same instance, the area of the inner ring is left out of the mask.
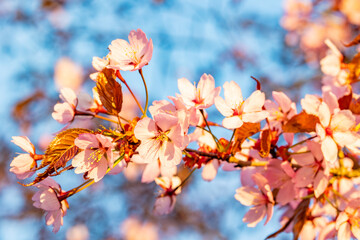
[[[244,186],[236,190],[235,199],[245,206],[254,205],[244,216],[243,221],[248,227],[255,227],[265,216],[265,224],[271,219],[274,208],[274,198],[270,185],[260,173],[252,176],[259,189]]]

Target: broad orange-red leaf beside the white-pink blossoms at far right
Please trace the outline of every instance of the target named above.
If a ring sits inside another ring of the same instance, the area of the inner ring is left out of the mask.
[[[284,132],[298,133],[298,132],[314,132],[316,124],[319,123],[319,118],[306,112],[301,112],[293,116],[284,126]]]

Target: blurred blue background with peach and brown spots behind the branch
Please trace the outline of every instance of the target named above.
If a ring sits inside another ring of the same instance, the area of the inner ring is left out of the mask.
[[[240,187],[238,171],[220,170],[210,183],[195,171],[174,211],[156,217],[152,208],[159,189],[140,183],[141,166],[106,176],[71,197],[64,226],[53,234],[43,212],[32,206],[35,188],[22,187],[9,173],[21,152],[11,136],[26,135],[39,152],[46,149],[63,127],[51,117],[59,89],[91,94],[92,57],[106,56],[112,40],[127,40],[138,28],[154,43],[153,58],[143,69],[150,102],[179,92],[178,78],[197,82],[203,73],[213,75],[217,86],[236,81],[245,97],[256,89],[250,76],[260,80],[267,98],[273,90],[294,101],[321,93],[323,42],[330,38],[345,51],[342,43],[359,32],[359,12],[357,0],[0,0],[0,239],[264,239],[281,227],[281,213],[265,227],[261,222],[247,228],[242,217],[248,208],[233,197]],[[140,76],[123,76],[144,101]],[[126,103],[134,114],[131,99]],[[208,113],[220,123],[215,108]],[[71,127],[104,123],[84,124]],[[68,190],[81,176],[67,172],[56,180]]]

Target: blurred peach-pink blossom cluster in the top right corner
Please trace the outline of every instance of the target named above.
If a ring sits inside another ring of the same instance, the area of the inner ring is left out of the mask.
[[[287,31],[287,45],[300,46],[306,62],[316,65],[326,52],[326,39],[340,44],[354,37],[352,29],[360,25],[360,2],[287,0],[280,24]]]

